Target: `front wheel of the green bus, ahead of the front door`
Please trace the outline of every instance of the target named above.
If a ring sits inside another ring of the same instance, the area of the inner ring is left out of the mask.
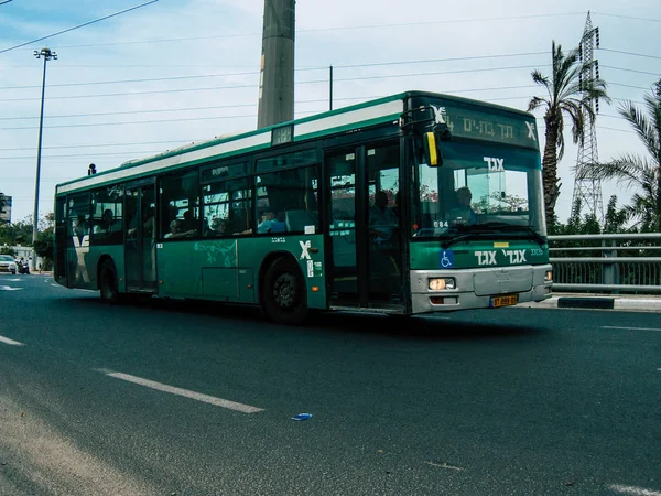
[[[299,265],[290,257],[273,260],[262,284],[262,306],[279,323],[299,325],[307,316],[305,281]]]

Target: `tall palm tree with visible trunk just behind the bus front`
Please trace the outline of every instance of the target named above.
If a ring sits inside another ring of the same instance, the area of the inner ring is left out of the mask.
[[[595,119],[592,101],[603,99],[610,101],[606,95],[606,84],[599,79],[589,80],[582,74],[590,74],[590,63],[581,62],[578,50],[564,54],[561,45],[553,41],[552,74],[543,76],[539,71],[532,72],[532,80],[542,85],[546,97],[533,97],[528,104],[528,111],[544,107],[544,123],[546,125],[544,155],[542,158],[542,176],[544,184],[544,212],[546,225],[554,223],[555,202],[560,196],[561,183],[557,180],[557,162],[564,154],[564,118],[570,116],[572,121],[572,139],[574,143],[583,143],[584,123],[587,117],[590,122]]]

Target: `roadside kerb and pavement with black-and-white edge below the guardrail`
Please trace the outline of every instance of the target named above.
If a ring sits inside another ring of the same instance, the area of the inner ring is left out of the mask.
[[[661,294],[553,293],[549,300],[539,303],[520,303],[519,306],[661,312]]]

